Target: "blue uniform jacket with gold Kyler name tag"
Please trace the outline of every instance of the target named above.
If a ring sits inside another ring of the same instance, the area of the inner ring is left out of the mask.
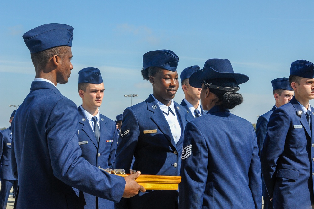
[[[146,101],[123,112],[115,168],[129,172],[133,156],[134,170],[141,174],[178,176],[181,165],[186,110],[174,102],[181,126],[180,140],[175,144],[167,120],[152,95]],[[150,131],[148,131],[150,130]],[[176,190],[146,190],[120,204],[122,208],[175,208]],[[123,198],[122,198],[123,199]]]

